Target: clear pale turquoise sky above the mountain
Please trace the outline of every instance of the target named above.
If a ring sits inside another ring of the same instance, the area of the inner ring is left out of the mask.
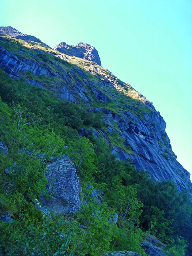
[[[87,42],[153,102],[192,173],[192,0],[0,0],[0,26],[56,46]]]

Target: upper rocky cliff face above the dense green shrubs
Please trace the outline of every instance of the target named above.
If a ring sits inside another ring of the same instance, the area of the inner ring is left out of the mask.
[[[95,48],[61,43],[50,49],[25,37],[13,42],[13,30],[1,27],[0,67],[8,75],[83,103],[89,112],[102,112],[106,129],[91,132],[103,136],[118,159],[148,170],[155,181],[172,179],[179,190],[192,189],[190,174],[176,160],[160,113],[129,84],[102,68],[98,53],[91,57]],[[87,131],[82,128],[79,134],[87,136]]]

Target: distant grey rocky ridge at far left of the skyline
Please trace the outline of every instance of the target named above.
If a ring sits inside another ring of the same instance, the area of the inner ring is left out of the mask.
[[[11,37],[11,38],[16,38],[16,39],[22,39],[24,41],[37,42],[37,43],[43,44],[44,46],[50,48],[49,45],[46,45],[45,43],[41,42],[41,40],[38,39],[37,37],[34,37],[34,35],[23,34],[11,26],[0,27],[0,36],[7,36],[7,37]]]

